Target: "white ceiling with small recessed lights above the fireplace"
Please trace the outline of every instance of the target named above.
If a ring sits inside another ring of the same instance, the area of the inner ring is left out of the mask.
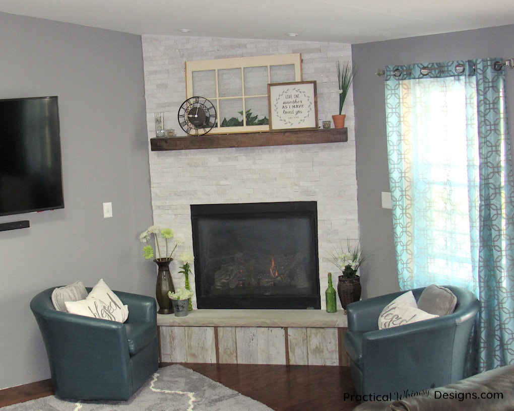
[[[512,0],[0,0],[0,12],[134,34],[290,40],[292,32],[350,44],[514,24]]]

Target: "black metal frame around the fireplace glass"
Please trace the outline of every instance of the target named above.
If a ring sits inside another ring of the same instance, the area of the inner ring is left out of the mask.
[[[313,274],[317,281],[313,291],[308,295],[267,295],[233,297],[202,295],[202,278],[200,264],[195,264],[196,304],[198,308],[217,309],[321,309],[320,284],[319,284],[319,256],[318,256],[318,207],[316,201],[283,201],[283,202],[258,202],[258,203],[225,203],[225,204],[191,204],[191,225],[193,231],[193,252],[199,255],[199,241],[195,233],[198,230],[198,222],[204,218],[241,218],[242,215],[250,217],[265,217],[272,213],[273,216],[302,216],[308,217],[312,245],[314,248],[314,265],[316,272]],[[222,301],[220,301],[222,300]],[[271,305],[271,307],[270,307]]]

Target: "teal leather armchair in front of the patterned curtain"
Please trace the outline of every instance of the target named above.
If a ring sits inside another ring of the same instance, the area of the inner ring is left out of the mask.
[[[347,306],[348,331],[343,347],[350,357],[355,389],[364,400],[412,395],[464,378],[479,301],[463,288],[445,287],[457,297],[453,313],[394,328],[379,330],[378,316],[405,291]],[[412,290],[416,301],[424,289]]]

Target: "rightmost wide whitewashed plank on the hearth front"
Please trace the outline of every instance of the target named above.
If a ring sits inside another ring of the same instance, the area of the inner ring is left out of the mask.
[[[339,365],[337,328],[307,328],[309,365]]]

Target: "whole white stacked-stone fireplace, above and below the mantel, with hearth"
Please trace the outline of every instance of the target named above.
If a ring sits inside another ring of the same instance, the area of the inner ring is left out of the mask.
[[[318,117],[330,120],[338,108],[336,62],[351,60],[350,45],[143,36],[148,138],[155,136],[158,111],[164,111],[166,128],[180,130],[176,113],[186,98],[185,61],[285,53],[302,53],[303,80],[317,81]],[[327,273],[337,273],[328,257],[347,238],[359,238],[352,95],[345,113],[344,143],[161,152],[150,151],[149,144],[154,223],[182,237],[175,258],[193,250],[191,204],[316,201],[318,208],[321,310],[159,315],[161,361],[346,364],[345,316],[340,306],[335,314],[324,311]],[[183,286],[179,265],[177,259],[171,265],[175,287]]]

